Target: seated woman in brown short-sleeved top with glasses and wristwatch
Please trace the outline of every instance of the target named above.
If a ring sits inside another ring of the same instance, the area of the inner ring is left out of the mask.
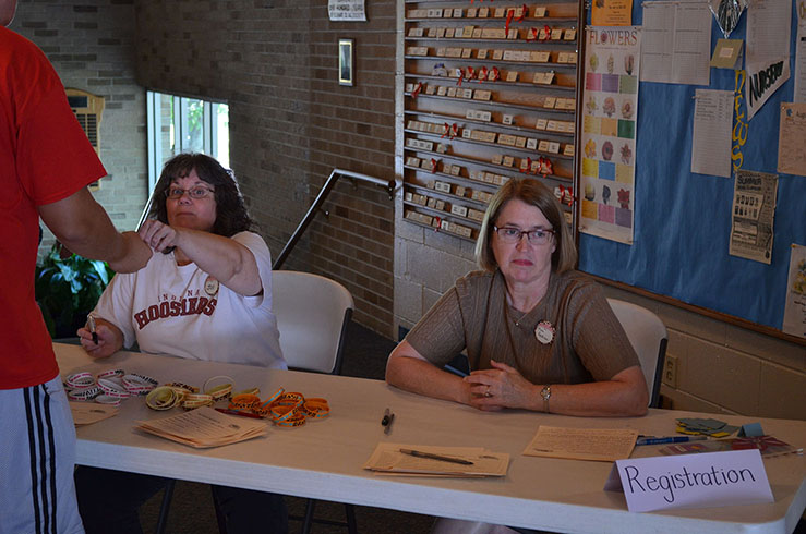
[[[480,410],[642,415],[638,357],[601,288],[573,269],[554,195],[512,180],[490,202],[476,245],[483,271],[456,281],[389,355],[386,381]],[[467,350],[472,373],[442,367]]]

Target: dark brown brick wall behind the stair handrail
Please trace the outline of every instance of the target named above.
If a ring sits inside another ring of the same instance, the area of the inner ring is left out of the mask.
[[[137,81],[229,104],[230,163],[275,257],[334,168],[394,177],[395,2],[366,9],[332,23],[326,2],[137,2]],[[356,39],[354,87],[338,85],[339,37]],[[284,267],[340,281],[354,318],[392,336],[393,203],[342,183],[325,209]]]

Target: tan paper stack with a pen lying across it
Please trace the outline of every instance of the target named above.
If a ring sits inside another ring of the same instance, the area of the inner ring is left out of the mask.
[[[378,474],[429,476],[504,476],[509,454],[483,447],[433,447],[378,444],[364,463]]]

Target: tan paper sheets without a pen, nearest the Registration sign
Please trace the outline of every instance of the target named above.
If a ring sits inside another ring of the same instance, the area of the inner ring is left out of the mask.
[[[621,428],[563,428],[540,425],[524,450],[529,457],[568,458],[612,462],[629,458],[637,430]]]

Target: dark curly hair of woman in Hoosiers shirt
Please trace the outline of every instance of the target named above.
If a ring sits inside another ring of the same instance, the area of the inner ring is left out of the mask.
[[[238,189],[234,173],[205,154],[180,154],[165,163],[157,186],[154,189],[154,204],[148,214],[151,217],[156,217],[165,224],[168,223],[165,192],[175,180],[185,178],[193,169],[196,170],[201,180],[215,189],[216,221],[210,230],[212,233],[231,238],[255,226],[243,204],[243,196]]]

